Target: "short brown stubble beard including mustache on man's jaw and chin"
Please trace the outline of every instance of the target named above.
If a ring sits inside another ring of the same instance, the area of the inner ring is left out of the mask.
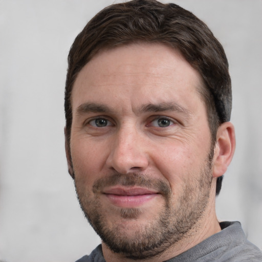
[[[139,208],[122,208],[120,210],[121,222],[108,223],[99,198],[91,198],[91,194],[86,192],[81,181],[75,179],[77,197],[86,219],[109,249],[134,260],[154,257],[182,238],[188,237],[188,234],[192,232],[192,229],[201,219],[209,201],[212,182],[212,158],[213,155],[209,154],[197,181],[185,181],[183,194],[179,199],[174,200],[176,205],[172,203],[172,192],[169,184],[160,180],[151,180],[146,178],[144,174],[114,173],[111,177],[95,182],[93,195],[105,185],[118,184],[144,187],[155,185],[155,188],[158,188],[164,196],[165,205],[161,212],[143,226],[139,224],[139,216],[142,213]],[[190,178],[189,175],[187,177]],[[122,223],[123,220],[127,222],[128,220],[137,220],[137,225],[126,228],[125,223]],[[132,232],[132,234],[128,236],[127,231]]]

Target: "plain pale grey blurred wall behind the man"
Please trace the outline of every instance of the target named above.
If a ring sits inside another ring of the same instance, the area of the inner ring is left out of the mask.
[[[0,259],[7,262],[72,262],[100,243],[67,172],[63,92],[74,38],[113,2],[0,1]],[[204,20],[228,56],[237,147],[217,215],[241,221],[262,248],[262,1],[173,2]]]

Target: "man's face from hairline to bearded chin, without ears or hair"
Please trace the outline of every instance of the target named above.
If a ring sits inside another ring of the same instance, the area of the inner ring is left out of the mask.
[[[100,52],[77,76],[70,141],[75,186],[86,217],[112,251],[155,256],[203,216],[212,146],[201,85],[198,72],[160,44]]]

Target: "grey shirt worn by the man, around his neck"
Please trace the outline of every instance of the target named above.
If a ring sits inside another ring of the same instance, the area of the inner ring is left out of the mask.
[[[239,222],[220,223],[221,231],[166,262],[262,262],[262,252],[247,240]],[[76,262],[106,262],[99,245]]]

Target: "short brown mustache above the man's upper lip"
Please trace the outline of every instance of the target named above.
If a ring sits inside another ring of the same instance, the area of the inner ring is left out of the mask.
[[[141,173],[121,174],[118,172],[113,173],[111,176],[100,178],[95,181],[93,185],[93,192],[98,193],[101,192],[105,187],[116,185],[130,187],[137,186],[148,189],[155,189],[159,193],[163,194],[165,197],[169,197],[169,195],[171,194],[170,185],[163,180],[148,178],[145,174]]]

